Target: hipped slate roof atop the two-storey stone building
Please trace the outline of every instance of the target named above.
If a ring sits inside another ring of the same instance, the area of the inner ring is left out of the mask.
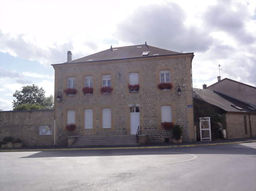
[[[116,59],[126,59],[126,58],[141,58],[143,52],[149,52],[148,56],[161,56],[161,55],[178,55],[183,54],[179,52],[169,51],[166,49],[141,44],[123,47],[113,47],[92,55],[88,55],[76,60],[65,63],[77,63],[77,62],[90,62],[90,61],[101,61],[101,60],[116,60]],[[186,53],[184,53],[186,54]],[[148,57],[144,56],[144,57]],[[64,64],[64,63],[63,63]]]

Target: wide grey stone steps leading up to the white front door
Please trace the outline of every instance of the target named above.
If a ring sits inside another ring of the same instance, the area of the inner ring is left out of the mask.
[[[72,147],[134,145],[137,145],[136,135],[80,136],[76,138],[76,140],[72,144]]]

